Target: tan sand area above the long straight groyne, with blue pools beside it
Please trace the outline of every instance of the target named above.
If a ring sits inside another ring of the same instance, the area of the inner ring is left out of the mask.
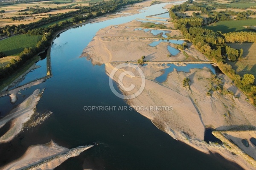
[[[186,59],[185,54],[180,52],[177,55],[167,57],[169,51],[167,47],[176,47],[169,42],[160,42],[159,45],[152,47],[149,44],[154,41],[160,34],[154,36],[149,31],[134,31],[135,27],[126,26],[109,26],[101,29],[96,36],[84,49],[81,57],[91,59],[93,64],[103,64],[106,62],[137,62],[142,56],[146,61],[183,61]],[[180,36],[180,31],[168,31],[169,36]],[[203,60],[206,58],[195,47],[188,43],[190,49],[184,50],[194,60]]]

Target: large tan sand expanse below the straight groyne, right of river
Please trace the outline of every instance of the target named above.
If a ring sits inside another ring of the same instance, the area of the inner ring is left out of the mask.
[[[106,73],[109,75],[116,65],[106,63]],[[169,73],[165,82],[159,83],[154,79],[162,74],[160,70],[167,67],[166,65],[148,64],[139,67],[145,74],[145,88],[136,98],[128,99],[129,105],[148,106],[148,108],[172,106],[172,111],[138,110],[138,112],[151,119],[154,125],[174,139],[183,141],[205,153],[209,151],[219,153],[230,161],[236,161],[245,169],[253,169],[252,164],[242,156],[234,156],[223,145],[204,142],[206,127],[217,130],[239,130],[241,126],[256,128],[256,108],[245,100],[246,96],[238,88],[230,84],[231,80],[227,76],[219,75],[219,78],[223,79],[224,90],[228,89],[235,95],[240,95],[239,99],[218,91],[212,92],[212,96],[207,96],[209,89],[215,85],[215,80],[212,79],[212,73],[208,68],[191,69],[189,73],[174,70]],[[129,92],[122,92],[125,95],[134,94],[140,88],[141,78],[132,68],[119,69],[113,79],[117,82],[119,75],[124,71],[132,71],[135,77],[125,76],[123,84],[125,87],[134,84],[135,88]],[[190,88],[184,88],[182,85],[185,77],[189,77],[191,81]]]

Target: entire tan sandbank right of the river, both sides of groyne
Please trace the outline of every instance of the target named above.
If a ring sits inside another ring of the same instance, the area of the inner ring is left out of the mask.
[[[154,125],[174,139],[204,153],[219,153],[244,169],[255,169],[256,146],[251,143],[247,149],[241,146],[242,139],[256,138],[256,133],[252,131],[256,130],[256,108],[245,100],[247,97],[233,85],[230,78],[224,74],[215,76],[209,68],[194,68],[189,73],[174,70],[168,74],[164,82],[157,82],[155,78],[162,75],[162,70],[169,66],[156,62],[180,61],[180,65],[183,65],[183,62],[203,62],[207,59],[190,43],[188,48],[183,50],[184,52],[180,51],[177,55],[167,57],[170,54],[167,46],[176,47],[175,44],[160,42],[159,45],[152,47],[149,44],[157,38],[163,39],[160,37],[163,34],[153,35],[150,31],[134,30],[136,28],[141,28],[138,21],[99,30],[84,49],[81,57],[90,59],[93,64],[105,64],[106,73],[110,75],[120,63],[133,65],[131,62],[137,62],[137,59],[144,55],[144,60],[148,61],[145,63],[148,65],[139,65],[139,67],[145,74],[145,88],[136,98],[128,99],[128,104],[133,107],[148,106],[148,108],[172,106],[172,111],[138,110],[138,112],[151,119]],[[166,31],[169,31],[170,37],[181,35],[177,30]],[[113,80],[118,82],[119,76],[125,71],[133,72],[135,77],[123,77],[123,85],[129,87],[134,84],[135,88],[131,91],[120,90],[125,95],[135,94],[142,81],[133,68],[119,69]],[[183,87],[183,79],[187,77],[190,79],[189,86]],[[220,86],[221,90],[211,91],[217,86]],[[224,144],[204,142],[205,129],[208,127],[214,128],[216,132],[230,132],[227,133],[229,136],[222,135],[229,142],[223,141]],[[240,134],[241,130],[244,135],[233,135],[233,133]],[[232,149],[233,143],[238,149]]]

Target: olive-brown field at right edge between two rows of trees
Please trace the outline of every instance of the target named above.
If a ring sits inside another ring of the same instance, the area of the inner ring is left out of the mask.
[[[236,72],[243,76],[244,74],[253,74],[256,77],[256,43],[231,43],[232,48],[243,48],[243,60],[228,62]]]

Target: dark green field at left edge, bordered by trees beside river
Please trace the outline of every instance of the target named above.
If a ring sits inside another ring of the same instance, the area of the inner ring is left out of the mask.
[[[35,47],[41,36],[21,34],[0,41],[0,51],[6,56],[17,56],[26,47]]]

